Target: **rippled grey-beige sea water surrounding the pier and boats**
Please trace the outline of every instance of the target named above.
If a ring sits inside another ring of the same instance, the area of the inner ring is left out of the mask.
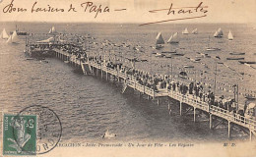
[[[52,24],[18,24],[21,30],[31,32],[48,32]],[[181,32],[185,27],[189,30],[198,28],[199,34],[180,35],[178,45],[165,46],[164,50],[176,49],[178,53],[184,53],[184,57],[173,60],[174,74],[180,72],[178,68],[183,65],[193,65],[195,69],[188,70],[191,79],[203,79],[207,83],[213,83],[215,63],[213,59],[202,59],[209,68],[200,63],[193,63],[188,58],[195,58],[196,52],[206,53],[205,47],[209,44],[222,48],[219,52],[209,53],[212,56],[220,56],[222,62],[234,69],[231,71],[224,65],[218,66],[218,87],[239,83],[241,91],[256,90],[255,70],[240,65],[237,61],[226,61],[230,57],[229,52],[245,52],[245,60],[255,61],[256,30],[246,25],[154,25],[138,27],[138,25],[103,25],[103,24],[54,24],[59,32],[77,33],[81,35],[91,34],[96,37],[94,41],[101,42],[109,39],[118,45],[122,43],[138,47],[140,51],[128,48],[106,48],[114,52],[123,52],[126,56],[137,56],[148,59],[151,63],[138,63],[136,67],[141,70],[149,70],[153,73],[167,74],[166,64],[170,60],[156,58],[152,52],[156,52],[151,46],[155,43],[158,31],[161,31],[164,40],[171,33]],[[7,31],[15,29],[15,24],[1,24],[0,28]],[[212,38],[216,29],[222,27],[225,37]],[[234,40],[228,41],[226,35],[231,29]],[[209,43],[209,35],[211,35]],[[115,83],[83,76],[74,72],[74,68],[57,59],[47,59],[48,63],[27,60],[23,53],[25,49],[25,37],[19,44],[10,45],[0,39],[0,107],[9,113],[17,113],[25,107],[39,104],[54,110],[59,116],[63,126],[63,140],[78,139],[79,141],[100,140],[101,135],[109,130],[116,133],[116,140],[199,140],[212,141],[227,139],[227,129],[209,130],[208,118],[198,118],[194,123],[193,115],[179,116],[178,103],[171,102],[173,112],[169,115],[165,101],[158,106],[154,101],[140,98],[138,93],[129,91],[121,93],[120,86]],[[97,53],[99,45],[91,52]],[[200,78],[198,72],[205,72]],[[238,73],[238,74],[237,74]],[[239,75],[244,73],[244,76]],[[228,90],[227,89],[227,90]],[[246,90],[245,90],[246,89]],[[232,96],[231,92],[219,91],[218,94]],[[243,99],[241,98],[241,101]],[[235,129],[234,129],[235,130]],[[234,132],[233,137],[243,136],[241,132]]]

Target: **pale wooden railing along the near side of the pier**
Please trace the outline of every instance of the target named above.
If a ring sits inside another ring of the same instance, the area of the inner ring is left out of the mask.
[[[62,54],[65,54],[66,56],[70,56],[70,61],[73,61],[77,64],[79,64],[77,61],[77,58],[74,59],[75,55],[72,56],[69,53],[65,53],[64,51],[61,51],[59,49],[55,49],[56,52],[61,52]],[[81,61],[80,61],[81,63]],[[121,78],[125,81],[125,84],[130,86],[131,88],[134,88],[142,93],[145,93],[147,95],[152,96],[153,98],[156,97],[170,97],[172,99],[176,99],[180,101],[181,103],[186,103],[196,109],[203,110],[205,112],[208,112],[211,115],[218,116],[220,118],[225,119],[228,122],[237,124],[239,126],[245,127],[251,131],[256,131],[256,121],[252,120],[251,118],[247,118],[245,116],[241,116],[236,113],[229,112],[226,109],[220,108],[218,106],[209,105],[207,102],[204,102],[200,100],[198,97],[195,97],[191,94],[182,94],[177,90],[167,90],[166,88],[161,88],[158,91],[155,91],[154,89],[143,85],[139,83],[138,80],[136,80],[135,77],[128,75],[126,73],[123,73],[122,71],[111,69],[106,67],[104,63],[98,64],[94,61],[88,61],[87,62],[90,67],[94,67],[98,70],[101,70],[101,72],[105,72],[107,74],[111,74],[118,79]]]

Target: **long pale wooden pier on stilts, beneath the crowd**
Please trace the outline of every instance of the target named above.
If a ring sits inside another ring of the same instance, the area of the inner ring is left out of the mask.
[[[169,103],[171,99],[177,100],[179,101],[180,116],[185,115],[188,111],[192,110],[194,122],[196,122],[196,111],[201,111],[209,116],[209,128],[211,130],[215,129],[220,124],[227,124],[228,137],[231,136],[231,128],[233,125],[240,127],[242,131],[248,133],[250,140],[252,140],[253,135],[256,135],[256,121],[251,118],[247,118],[236,113],[229,113],[223,108],[209,105],[207,102],[200,101],[191,94],[184,95],[178,91],[168,90],[166,88],[155,91],[150,87],[140,84],[135,77],[127,75],[118,69],[114,70],[108,68],[104,63],[97,64],[94,61],[85,62],[82,60],[82,58],[78,58],[75,55],[56,48],[53,48],[52,51],[56,58],[81,69],[85,75],[100,76],[102,79],[105,78],[105,80],[109,80],[110,77],[112,77],[114,80],[122,82],[122,93],[124,93],[126,89],[130,87],[137,90],[140,95],[146,95],[148,99],[157,100],[158,104],[160,104],[161,98],[167,98],[168,108],[170,108]],[[185,107],[187,111],[182,113],[182,111],[184,111],[183,108]]]

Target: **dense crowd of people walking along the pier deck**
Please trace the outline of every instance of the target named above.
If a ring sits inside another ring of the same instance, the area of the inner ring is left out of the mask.
[[[243,112],[238,111],[238,107],[234,99],[226,99],[224,98],[224,95],[217,97],[214,92],[211,91],[211,88],[204,88],[201,82],[192,81],[187,83],[182,80],[174,80],[171,76],[151,75],[148,72],[125,66],[120,62],[114,62],[110,59],[105,60],[100,55],[88,55],[82,46],[77,46],[75,44],[57,45],[57,48],[75,55],[83,62],[90,61],[100,65],[103,64],[109,69],[124,73],[130,76],[133,80],[136,80],[138,83],[153,89],[155,92],[179,92],[182,95],[193,97],[196,101],[206,102],[209,106],[214,105],[229,112],[238,113],[242,116],[244,115]],[[128,77],[127,79],[129,80],[130,78]]]

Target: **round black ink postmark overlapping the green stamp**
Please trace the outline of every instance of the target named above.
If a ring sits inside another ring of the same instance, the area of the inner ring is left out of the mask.
[[[12,130],[12,133],[8,133],[8,134],[11,134],[11,136],[14,137],[13,142],[17,143],[18,148],[22,150],[23,152],[22,155],[45,154],[51,151],[55,146],[57,146],[58,142],[60,141],[61,134],[62,134],[62,126],[61,126],[60,119],[52,109],[48,107],[40,106],[40,105],[33,105],[30,107],[24,108],[18,115],[16,116],[13,115],[14,117],[13,119],[17,120],[17,122],[21,122],[20,119],[24,119],[23,117],[31,117],[31,116],[33,116],[33,118],[36,120],[33,122],[33,125],[34,127],[36,127],[35,128],[36,130],[33,133],[34,136],[32,136],[35,141],[33,143],[32,148],[25,147],[23,143],[19,142],[20,135],[16,130]],[[4,130],[5,130],[5,122],[4,122]],[[26,128],[26,124],[25,124],[25,131],[26,130],[28,129]],[[5,136],[6,135],[4,134],[4,141],[7,140]],[[25,136],[26,135],[24,135],[23,137]],[[8,152],[4,154],[8,155]],[[19,155],[19,154],[11,154],[11,155]]]

